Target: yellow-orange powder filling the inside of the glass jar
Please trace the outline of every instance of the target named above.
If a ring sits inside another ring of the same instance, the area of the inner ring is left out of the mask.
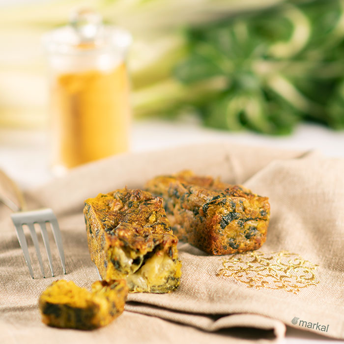
[[[52,89],[53,164],[67,168],[128,150],[129,83],[110,72],[59,75]]]

